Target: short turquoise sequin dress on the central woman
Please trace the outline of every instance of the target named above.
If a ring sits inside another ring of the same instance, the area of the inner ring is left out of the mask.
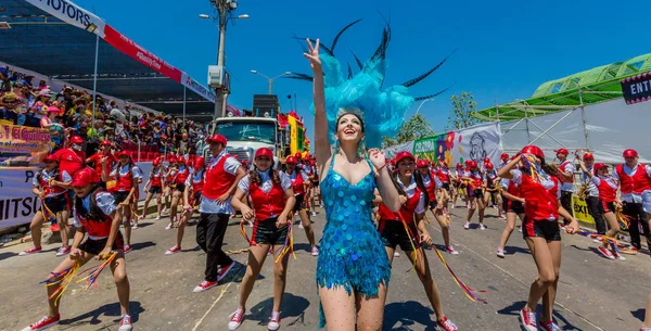
[[[333,165],[334,155],[321,182],[327,224],[317,262],[317,285],[343,287],[348,294],[378,295],[380,284],[388,285],[391,264],[372,220],[373,173],[350,184],[334,171]],[[373,168],[370,162],[369,166]],[[322,328],[326,317],[321,307],[319,313]]]

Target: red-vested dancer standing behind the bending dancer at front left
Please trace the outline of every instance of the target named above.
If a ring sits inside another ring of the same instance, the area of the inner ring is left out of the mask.
[[[117,153],[119,162],[106,176],[106,171],[102,171],[102,180],[115,180],[115,203],[119,209],[122,221],[125,226],[125,253],[131,252],[131,199],[136,196],[136,191],[142,182],[142,171],[133,164],[131,155],[128,152]],[[102,158],[102,164],[107,167],[107,157]],[[119,219],[118,219],[119,221]]]

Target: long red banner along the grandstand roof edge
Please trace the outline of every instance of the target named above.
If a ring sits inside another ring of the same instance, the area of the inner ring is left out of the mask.
[[[150,53],[148,50],[133,42],[133,40],[118,33],[108,24],[106,24],[106,26],[104,27],[104,34],[106,35],[104,37],[104,40],[114,48],[138,60],[140,63],[151,67],[159,74],[165,75],[177,82],[181,82],[181,71],[169,65],[167,62],[163,61],[158,56]]]

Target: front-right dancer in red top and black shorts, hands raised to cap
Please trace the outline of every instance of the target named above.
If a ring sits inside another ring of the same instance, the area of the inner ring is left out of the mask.
[[[558,170],[545,163],[542,150],[536,145],[527,145],[521,153],[498,171],[500,178],[513,180],[520,186],[526,215],[522,232],[538,267],[538,278],[532,283],[526,305],[520,310],[520,318],[525,330],[538,331],[536,306],[542,298],[539,326],[545,331],[558,331],[560,329],[552,316],[561,272],[559,215],[570,220],[567,233],[578,232],[578,222],[559,203],[561,192],[556,177]],[[521,161],[524,168],[518,169]]]

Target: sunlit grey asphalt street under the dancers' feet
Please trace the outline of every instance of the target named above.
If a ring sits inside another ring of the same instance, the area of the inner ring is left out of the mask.
[[[324,225],[322,209],[314,217],[317,238]],[[487,230],[464,230],[467,209],[451,209],[452,243],[458,256],[443,253],[452,270],[471,288],[486,290],[487,304],[470,302],[454,282],[433,251],[426,251],[433,276],[442,292],[444,311],[459,330],[521,330],[518,310],[524,305],[531,282],[537,275],[522,234],[515,231],[499,258],[495,249],[505,221],[489,209]],[[194,241],[194,227],[186,232],[180,253],[165,255],[174,245],[174,230],[165,230],[167,219],[146,219],[133,231],[133,251],[127,255],[131,284],[130,310],[135,330],[227,330],[234,311],[247,253],[239,231],[239,218],[227,231],[225,250],[242,263],[219,287],[203,293],[192,289],[202,280],[205,254]],[[317,258],[308,252],[305,233],[294,226],[296,259],[291,259],[282,304],[281,330],[317,330],[318,295],[314,281]],[[251,231],[251,229],[248,229]],[[439,249],[441,229],[430,227]],[[638,330],[651,293],[647,253],[626,255],[625,262],[609,260],[597,253],[597,244],[580,235],[563,234],[563,265],[554,319],[562,330]],[[21,330],[46,311],[46,292],[38,282],[59,264],[59,245],[43,253],[17,256],[29,243],[0,250],[0,330]],[[267,259],[247,303],[240,330],[266,330],[272,305],[272,265]],[[117,330],[119,306],[110,271],[102,273],[100,288],[85,291],[74,283],[62,301],[62,321],[51,330]],[[437,330],[435,315],[411,265],[403,254],[393,264],[385,307],[384,330]]]

